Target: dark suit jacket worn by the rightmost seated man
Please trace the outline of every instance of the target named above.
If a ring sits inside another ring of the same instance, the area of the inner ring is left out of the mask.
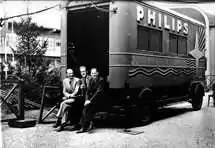
[[[96,80],[93,78],[89,81],[89,87],[87,88],[86,100],[91,102],[96,101],[98,97],[104,94],[104,79],[98,77]]]

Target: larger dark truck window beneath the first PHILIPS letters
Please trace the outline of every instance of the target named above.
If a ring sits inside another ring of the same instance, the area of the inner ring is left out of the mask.
[[[162,52],[162,31],[138,26],[137,42],[140,50]]]

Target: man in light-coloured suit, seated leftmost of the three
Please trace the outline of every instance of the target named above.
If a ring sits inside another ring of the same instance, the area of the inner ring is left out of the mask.
[[[57,121],[53,127],[59,127],[57,131],[63,130],[67,122],[68,109],[75,104],[79,90],[79,79],[74,77],[72,69],[67,69],[67,77],[63,80],[63,102],[57,113]],[[62,121],[62,118],[64,121]]]

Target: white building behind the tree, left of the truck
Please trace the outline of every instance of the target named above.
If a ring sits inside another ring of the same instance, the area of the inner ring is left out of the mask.
[[[16,55],[14,51],[17,50],[17,35],[16,28],[13,27],[12,22],[8,22],[1,30],[0,36],[0,63],[11,63],[15,60]],[[48,40],[48,48],[44,58],[47,60],[59,60],[60,59],[60,30],[53,28],[39,27],[38,32],[40,36],[38,40]]]

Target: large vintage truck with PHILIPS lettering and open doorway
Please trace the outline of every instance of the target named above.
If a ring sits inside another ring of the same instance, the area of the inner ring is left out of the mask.
[[[201,109],[203,23],[142,1],[68,2],[61,23],[62,63],[97,67],[110,106],[133,106],[130,115],[143,122],[169,103],[189,101]]]

